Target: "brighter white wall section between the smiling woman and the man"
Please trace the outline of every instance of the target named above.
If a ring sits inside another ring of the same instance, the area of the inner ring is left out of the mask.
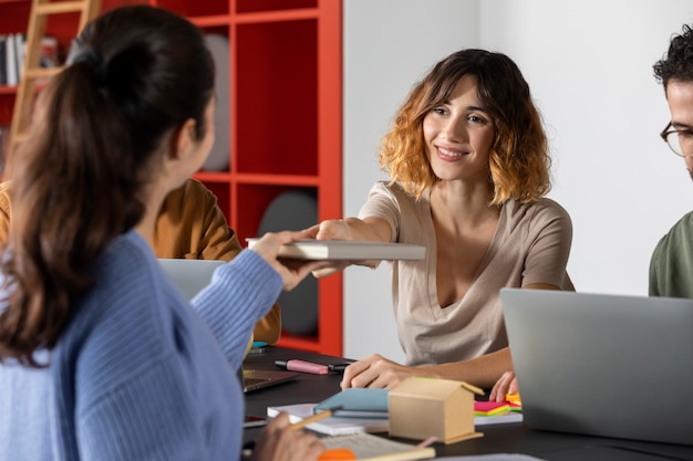
[[[480,44],[520,66],[555,158],[550,197],[569,211],[576,289],[648,293],[658,240],[691,210],[683,159],[652,64],[693,22],[690,0],[484,0]]]

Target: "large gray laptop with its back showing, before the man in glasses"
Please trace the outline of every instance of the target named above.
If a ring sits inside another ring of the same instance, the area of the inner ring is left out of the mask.
[[[693,444],[693,300],[503,289],[532,429]]]

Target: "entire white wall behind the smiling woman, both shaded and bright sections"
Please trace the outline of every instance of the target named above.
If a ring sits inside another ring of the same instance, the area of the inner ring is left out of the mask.
[[[690,178],[658,134],[669,122],[652,64],[693,22],[690,0],[344,0],[344,212],[381,178],[377,142],[436,61],[480,46],[529,82],[554,154],[554,189],[573,220],[580,291],[647,294],[659,238],[691,209]],[[344,355],[395,360],[385,268],[344,274]]]

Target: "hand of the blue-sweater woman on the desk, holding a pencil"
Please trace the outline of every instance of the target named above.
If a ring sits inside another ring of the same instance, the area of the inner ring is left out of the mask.
[[[252,461],[313,461],[325,451],[314,433],[297,430],[282,412],[272,419],[255,443]]]

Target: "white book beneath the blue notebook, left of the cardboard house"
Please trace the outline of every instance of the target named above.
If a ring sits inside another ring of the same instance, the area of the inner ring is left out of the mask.
[[[304,418],[313,416],[316,404],[297,404],[285,405],[279,407],[267,407],[267,416],[270,418],[279,415],[280,411],[289,413],[289,420],[292,423],[299,422]],[[384,418],[340,418],[337,416],[311,422],[308,429],[328,436],[340,436],[345,433],[360,432],[387,432],[390,421],[387,416]]]

